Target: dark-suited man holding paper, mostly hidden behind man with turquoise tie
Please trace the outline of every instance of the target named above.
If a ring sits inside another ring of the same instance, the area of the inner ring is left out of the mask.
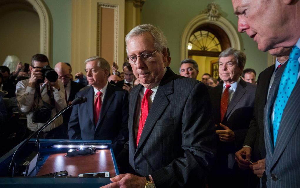
[[[243,148],[235,153],[235,160],[238,162],[238,166],[241,169],[253,170],[253,174],[250,175],[249,184],[253,187],[257,186],[259,178],[263,178],[263,184],[265,184],[265,139],[263,131],[263,111],[265,103],[267,101],[268,92],[274,81],[274,76],[279,67],[286,62],[289,58],[291,48],[282,48],[279,51],[276,62],[274,65],[266,68],[262,71],[257,79],[257,88],[254,101],[254,117],[250,122],[249,129],[243,144]],[[254,162],[251,165],[249,161]],[[257,176],[257,177],[256,177]]]

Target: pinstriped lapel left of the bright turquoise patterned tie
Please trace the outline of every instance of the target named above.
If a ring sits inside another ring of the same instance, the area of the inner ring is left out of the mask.
[[[283,70],[286,66],[286,63],[284,63],[280,69],[277,70],[275,77],[274,77],[274,82],[272,83],[272,86],[270,88],[270,92],[268,95],[267,102],[265,104],[265,109],[264,109],[264,132],[265,132],[265,149],[267,152],[267,155],[270,155],[269,158],[273,159],[273,153],[274,153],[274,145],[273,145],[273,140],[271,137],[271,131],[270,131],[270,125],[271,125],[271,113],[273,110],[273,103],[274,100],[277,96],[277,91],[280,83],[280,79],[283,73]],[[270,169],[269,166],[271,165],[272,162],[267,162],[266,163],[266,169]]]

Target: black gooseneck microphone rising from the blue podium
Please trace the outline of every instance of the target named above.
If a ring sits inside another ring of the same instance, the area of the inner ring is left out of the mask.
[[[16,167],[16,163],[14,162],[15,161],[15,156],[16,156],[16,153],[17,151],[22,147],[24,146],[26,143],[29,142],[29,140],[35,136],[35,134],[38,133],[37,135],[37,140],[35,141],[35,144],[36,144],[36,147],[37,147],[37,151],[39,152],[40,150],[40,142],[39,142],[39,139],[38,139],[38,136],[39,136],[39,133],[44,129],[46,128],[51,122],[53,122],[56,118],[58,118],[58,116],[60,116],[63,112],[65,112],[67,109],[69,109],[70,107],[76,105],[76,104],[81,104],[81,103],[85,103],[87,101],[87,98],[86,97],[77,97],[76,99],[74,99],[72,101],[71,104],[69,104],[68,106],[66,106],[64,109],[60,110],[59,112],[57,112],[52,118],[50,118],[43,126],[41,126],[37,131],[35,131],[35,133],[33,133],[30,137],[28,137],[17,149],[16,151],[13,153],[13,157],[11,159],[11,162],[10,162],[10,165],[9,165],[9,168],[8,168],[8,175],[13,177],[14,174],[15,174],[15,167]]]

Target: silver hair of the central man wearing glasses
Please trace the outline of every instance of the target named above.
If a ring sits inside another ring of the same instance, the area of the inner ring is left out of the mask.
[[[151,24],[143,24],[133,28],[125,37],[126,45],[131,38],[143,35],[145,32],[150,32],[153,36],[155,50],[163,52],[164,49],[167,48],[167,38],[165,37],[164,33],[161,29]],[[127,46],[126,52],[128,54]]]

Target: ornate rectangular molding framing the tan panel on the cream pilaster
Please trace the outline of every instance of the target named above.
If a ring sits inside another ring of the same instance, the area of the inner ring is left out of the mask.
[[[113,61],[118,63],[118,27],[119,27],[119,5],[98,3],[97,4],[97,55],[101,54],[101,8],[112,8],[114,9],[114,57]]]

